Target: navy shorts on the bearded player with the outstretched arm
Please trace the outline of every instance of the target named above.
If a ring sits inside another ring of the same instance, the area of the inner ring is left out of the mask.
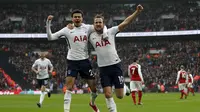
[[[124,76],[121,64],[100,67],[100,78],[102,87],[115,86],[116,89],[124,88]]]

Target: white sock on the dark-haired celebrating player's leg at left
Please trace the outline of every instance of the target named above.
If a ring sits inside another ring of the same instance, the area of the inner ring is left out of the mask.
[[[70,104],[72,99],[72,92],[69,90],[66,90],[64,95],[64,112],[70,111]]]

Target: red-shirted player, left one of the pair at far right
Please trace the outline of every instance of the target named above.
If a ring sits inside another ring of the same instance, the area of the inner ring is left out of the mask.
[[[188,83],[188,75],[187,72],[184,70],[184,66],[181,65],[180,71],[178,71],[177,79],[176,79],[176,84],[178,84],[179,91],[181,92],[181,98],[183,99],[183,96],[185,95],[185,99],[187,98],[187,92],[184,90],[187,90],[186,86]]]

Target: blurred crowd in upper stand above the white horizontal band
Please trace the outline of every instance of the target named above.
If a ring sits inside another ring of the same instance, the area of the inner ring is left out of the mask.
[[[129,25],[126,31],[169,31],[195,30],[200,28],[200,3],[147,2],[141,3],[145,10]],[[0,5],[0,33],[46,33],[45,22],[48,15],[54,15],[53,31],[66,26],[71,21],[70,12],[81,9],[84,22],[93,23],[97,14],[105,16],[108,27],[119,24],[134,12],[136,4],[2,4]]]

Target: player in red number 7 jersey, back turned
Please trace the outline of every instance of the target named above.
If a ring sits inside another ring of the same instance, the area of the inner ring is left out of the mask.
[[[138,92],[138,105],[142,105],[142,84],[144,83],[144,79],[141,72],[141,66],[138,64],[139,60],[134,58],[133,63],[128,67],[128,75],[131,78],[130,89],[132,94],[132,99],[134,104],[136,105],[136,92]]]

